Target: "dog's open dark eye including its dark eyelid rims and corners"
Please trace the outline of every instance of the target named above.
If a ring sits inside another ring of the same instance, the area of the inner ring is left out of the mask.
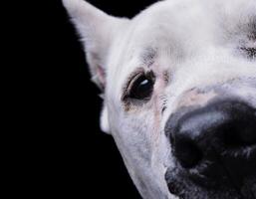
[[[152,72],[139,73],[131,78],[124,100],[150,100],[153,93],[154,76]]]

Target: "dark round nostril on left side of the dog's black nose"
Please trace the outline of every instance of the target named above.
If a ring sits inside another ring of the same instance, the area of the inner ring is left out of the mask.
[[[174,139],[174,155],[184,168],[193,168],[203,158],[202,151],[188,137],[176,137]]]

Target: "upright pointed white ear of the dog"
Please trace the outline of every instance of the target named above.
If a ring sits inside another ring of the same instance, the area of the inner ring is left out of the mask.
[[[84,0],[63,0],[63,4],[81,36],[92,80],[104,92],[109,50],[128,19],[112,17]]]

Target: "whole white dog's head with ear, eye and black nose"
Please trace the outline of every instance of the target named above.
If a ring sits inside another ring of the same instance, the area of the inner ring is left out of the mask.
[[[166,0],[131,20],[64,0],[143,198],[256,198],[256,1]]]

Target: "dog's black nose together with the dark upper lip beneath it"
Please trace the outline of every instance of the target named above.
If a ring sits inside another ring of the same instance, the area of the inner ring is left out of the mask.
[[[241,187],[256,176],[256,109],[239,100],[214,100],[168,118],[165,133],[176,167],[193,183]]]

